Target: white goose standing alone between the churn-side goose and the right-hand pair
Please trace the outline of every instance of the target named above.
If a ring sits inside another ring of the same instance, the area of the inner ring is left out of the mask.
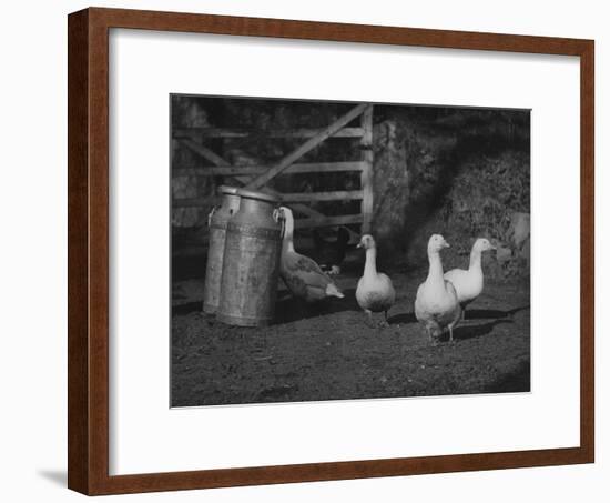
[[[386,274],[377,272],[377,247],[370,234],[363,235],[357,248],[366,250],[366,262],[363,276],[356,288],[356,301],[368,315],[369,324],[373,323],[373,313],[383,311],[385,325],[387,325],[387,312],[396,300],[392,280]]]

